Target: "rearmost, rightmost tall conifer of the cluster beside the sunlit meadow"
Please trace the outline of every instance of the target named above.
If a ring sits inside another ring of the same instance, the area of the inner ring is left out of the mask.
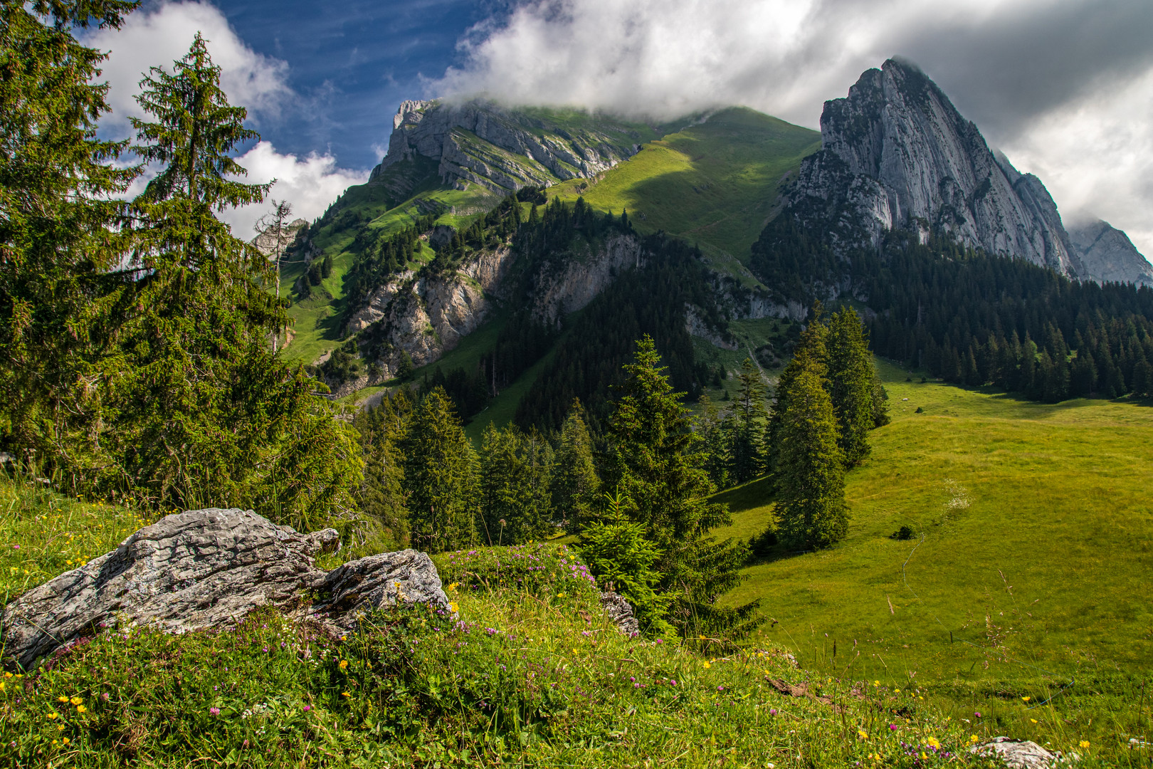
[[[849,467],[869,453],[873,429],[873,355],[868,349],[857,310],[845,308],[829,318],[828,382],[832,412],[837,417],[837,444]],[[975,360],[973,362],[975,370]]]

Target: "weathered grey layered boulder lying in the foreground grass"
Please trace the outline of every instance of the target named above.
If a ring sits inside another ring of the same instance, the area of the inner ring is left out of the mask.
[[[197,510],[146,526],[112,552],[33,588],[3,609],[6,662],[37,658],[104,627],[171,633],[229,626],[262,606],[348,628],[357,612],[401,602],[447,610],[431,559],[414,550],[370,556],[332,572],[315,558],[334,529],[300,534],[251,511]],[[321,601],[307,605],[307,594]]]

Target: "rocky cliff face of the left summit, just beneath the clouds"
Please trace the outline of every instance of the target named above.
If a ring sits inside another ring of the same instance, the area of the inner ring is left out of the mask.
[[[423,157],[438,163],[445,183],[462,189],[474,182],[504,194],[589,178],[639,150],[620,138],[628,128],[608,119],[603,130],[575,128],[490,101],[402,101],[392,127],[389,152],[370,181],[402,160]]]

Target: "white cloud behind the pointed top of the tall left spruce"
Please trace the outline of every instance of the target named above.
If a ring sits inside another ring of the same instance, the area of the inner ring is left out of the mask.
[[[103,78],[111,90],[112,114],[101,125],[129,130],[128,118],[142,116],[136,95],[150,67],[172,71],[172,62],[188,53],[196,32],[208,40],[212,62],[220,67],[220,85],[233,104],[248,107],[255,116],[276,116],[288,88],[288,65],[248,47],[218,8],[208,2],[166,2],[149,12],[128,16],[119,30],[95,30],[84,43],[108,51]]]

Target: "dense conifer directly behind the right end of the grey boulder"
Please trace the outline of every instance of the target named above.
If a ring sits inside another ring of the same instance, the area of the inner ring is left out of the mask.
[[[443,552],[473,544],[476,458],[442,387],[414,409],[400,453],[413,546]]]

